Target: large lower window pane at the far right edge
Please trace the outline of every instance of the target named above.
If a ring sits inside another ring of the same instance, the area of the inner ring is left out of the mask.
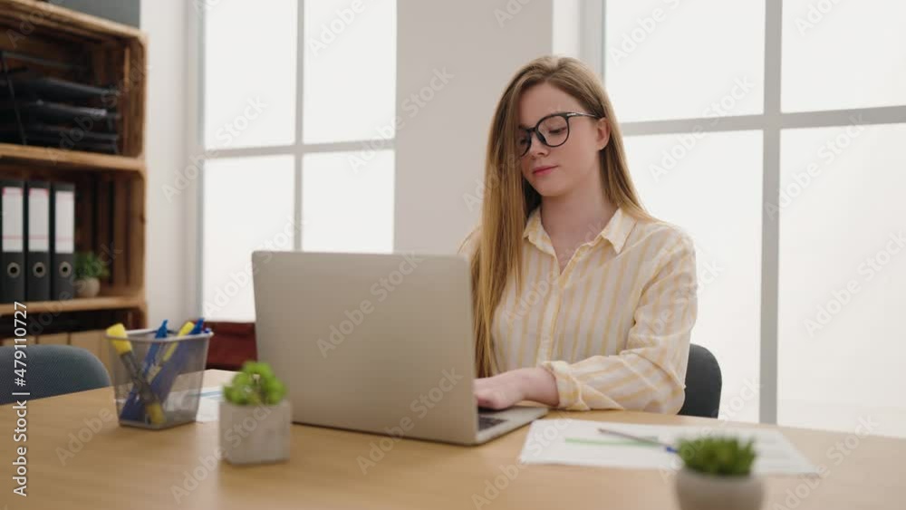
[[[906,437],[906,124],[781,138],[778,419]],[[775,209],[776,210],[776,209]]]

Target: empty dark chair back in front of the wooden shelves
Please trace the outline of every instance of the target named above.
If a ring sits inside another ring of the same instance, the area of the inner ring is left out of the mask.
[[[31,393],[19,399],[43,399],[63,393],[94,390],[111,385],[103,363],[89,351],[72,345],[29,345],[20,351],[23,365],[15,365],[16,349],[0,347],[0,404],[14,402],[14,392]],[[13,370],[25,369],[25,386],[18,386]]]

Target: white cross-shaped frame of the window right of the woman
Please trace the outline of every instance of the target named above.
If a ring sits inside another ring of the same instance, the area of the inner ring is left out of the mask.
[[[604,51],[604,16],[607,0],[583,2],[580,57],[602,78],[607,73]],[[769,214],[766,204],[780,203],[780,134],[798,128],[828,128],[851,125],[892,124],[906,122],[906,105],[851,110],[802,111],[780,110],[782,0],[765,0],[765,102],[764,112],[757,115],[728,115],[720,122],[705,118],[679,120],[645,120],[621,122],[623,136],[664,135],[703,132],[760,130],[763,135],[761,207],[761,342],[759,378],[761,390],[758,417],[761,423],[777,422],[777,317],[780,256],[780,215]]]

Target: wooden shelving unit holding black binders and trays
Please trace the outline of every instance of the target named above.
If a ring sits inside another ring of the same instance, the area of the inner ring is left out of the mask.
[[[129,328],[147,326],[146,36],[130,26],[36,0],[0,0],[0,34],[4,34],[0,50],[84,63],[94,84],[113,84],[119,90],[114,100],[120,113],[115,155],[62,145],[0,143],[0,178],[75,185],[75,249],[106,255],[111,273],[101,281],[99,297],[24,303],[29,322],[38,315],[50,317],[39,332],[29,334],[38,343],[42,336],[48,343],[52,336],[53,343],[59,343],[60,335],[85,348],[97,343],[96,354],[104,359],[99,328],[112,322],[125,322]],[[63,72],[54,77],[75,81]],[[14,304],[0,304],[0,340],[12,336],[13,313]],[[92,340],[86,344],[85,338]]]

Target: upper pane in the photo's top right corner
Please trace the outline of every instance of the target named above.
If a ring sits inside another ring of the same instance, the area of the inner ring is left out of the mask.
[[[906,3],[785,0],[784,111],[906,104]]]

